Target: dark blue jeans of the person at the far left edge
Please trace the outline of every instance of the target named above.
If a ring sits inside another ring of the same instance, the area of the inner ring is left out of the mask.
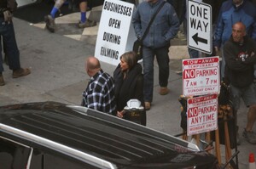
[[[9,69],[20,69],[20,52],[16,43],[14,25],[12,22],[4,22],[2,17],[0,17],[0,36],[3,38],[3,42],[5,43],[6,54],[8,55],[9,60]],[[1,43],[2,42],[0,41],[0,72],[3,71]]]

